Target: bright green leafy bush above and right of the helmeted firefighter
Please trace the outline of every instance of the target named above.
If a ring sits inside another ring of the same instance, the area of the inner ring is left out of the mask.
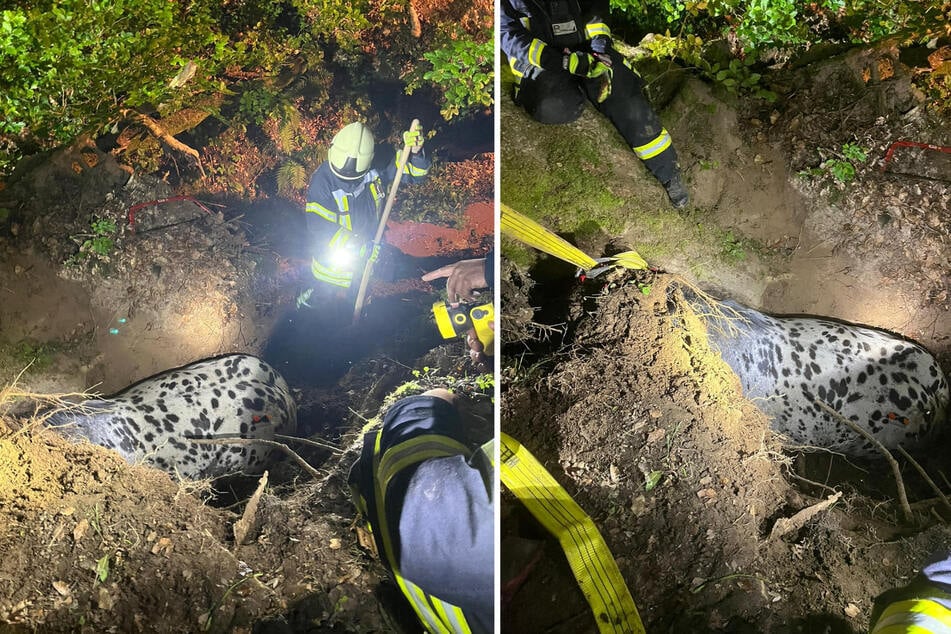
[[[423,82],[442,92],[440,113],[447,121],[473,108],[493,104],[495,51],[491,31],[473,39],[459,34],[444,45],[423,54],[430,69],[414,68],[407,75],[406,93],[413,94]]]

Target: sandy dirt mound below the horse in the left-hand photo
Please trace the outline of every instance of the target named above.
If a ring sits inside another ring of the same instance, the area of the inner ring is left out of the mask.
[[[0,621],[44,631],[233,631],[278,599],[225,511],[168,475],[0,424]]]

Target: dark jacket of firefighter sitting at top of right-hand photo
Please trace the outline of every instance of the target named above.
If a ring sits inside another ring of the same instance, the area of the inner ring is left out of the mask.
[[[538,70],[562,70],[564,50],[606,52],[608,2],[501,0],[502,51],[516,80]]]

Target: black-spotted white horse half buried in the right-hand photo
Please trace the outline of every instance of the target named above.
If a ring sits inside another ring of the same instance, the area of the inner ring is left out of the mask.
[[[877,450],[816,404],[831,406],[886,448],[920,446],[948,415],[948,379],[934,356],[894,334],[816,317],[774,317],[682,289],[743,394],[792,443],[850,456]]]

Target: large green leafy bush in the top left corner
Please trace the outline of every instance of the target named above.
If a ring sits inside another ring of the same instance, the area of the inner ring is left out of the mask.
[[[0,135],[50,147],[123,108],[175,107],[208,89],[240,53],[219,33],[217,9],[211,0],[18,0],[0,12]],[[179,86],[189,62],[197,72]],[[11,158],[0,156],[0,168]]]

